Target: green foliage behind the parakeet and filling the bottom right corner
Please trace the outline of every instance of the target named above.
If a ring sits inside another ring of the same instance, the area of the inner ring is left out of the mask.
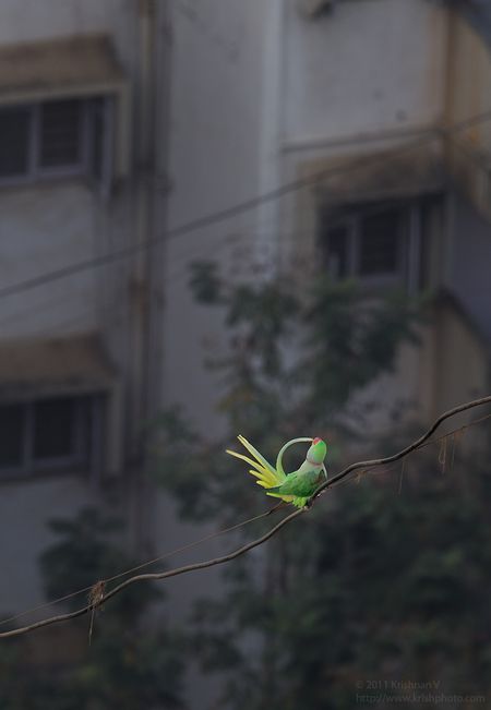
[[[403,339],[416,340],[416,311],[400,294],[367,302],[355,285],[323,279],[301,299],[285,281],[230,289],[211,264],[194,270],[193,287],[229,328],[229,357],[215,366],[230,437],[209,444],[179,412],[161,417],[159,470],[183,516],[218,527],[271,503],[224,455],[237,433],[271,460],[285,440],[321,435],[331,470],[355,441],[369,454],[393,453],[394,438],[367,441],[363,412],[348,416],[348,405],[393,368]],[[298,461],[289,461],[292,470]],[[463,497],[454,473],[442,477],[422,458],[400,495],[394,478],[366,477],[227,566],[223,598],[202,600],[193,614],[204,667],[227,679],[220,707],[352,708],[357,693],[373,696],[369,681],[489,690],[491,488],[486,471],[468,476],[478,495]]]

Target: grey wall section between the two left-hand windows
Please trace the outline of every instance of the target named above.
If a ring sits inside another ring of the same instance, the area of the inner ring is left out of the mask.
[[[17,285],[98,253],[91,191],[72,182],[0,190],[0,282]],[[0,298],[2,339],[46,337],[97,327],[97,274]]]

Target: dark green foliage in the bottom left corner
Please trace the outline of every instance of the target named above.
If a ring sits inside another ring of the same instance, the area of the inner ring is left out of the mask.
[[[75,519],[53,520],[56,542],[40,564],[49,599],[94,580],[110,577],[134,564],[118,543],[121,526],[86,508]],[[95,612],[92,645],[89,617],[70,622],[67,642],[51,663],[29,663],[29,647],[37,639],[23,637],[0,649],[0,707],[2,710],[151,710],[183,708],[182,637],[161,622],[148,624],[151,602],[161,592],[152,586],[134,586]],[[86,603],[83,597],[67,600],[69,609]],[[39,635],[39,648],[49,639]],[[50,654],[51,655],[51,654]],[[70,661],[64,660],[70,659]]]

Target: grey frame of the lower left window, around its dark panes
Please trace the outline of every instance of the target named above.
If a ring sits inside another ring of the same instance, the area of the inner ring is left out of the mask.
[[[74,400],[74,444],[73,453],[69,456],[35,457],[35,406],[38,402],[72,398]],[[0,464],[0,481],[21,481],[37,479],[51,473],[87,473],[95,472],[101,457],[101,434],[104,425],[104,394],[101,393],[63,393],[51,396],[34,397],[27,400],[4,400],[0,407],[21,405],[24,408],[24,425],[21,441],[22,461],[19,466]],[[84,418],[87,416],[87,421]]]

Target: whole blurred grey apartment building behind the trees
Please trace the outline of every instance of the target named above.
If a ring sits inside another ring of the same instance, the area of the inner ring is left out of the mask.
[[[87,502],[176,539],[144,443],[175,402],[220,429],[196,258],[431,293],[387,408],[488,390],[490,49],[477,0],[2,1],[0,609]]]

